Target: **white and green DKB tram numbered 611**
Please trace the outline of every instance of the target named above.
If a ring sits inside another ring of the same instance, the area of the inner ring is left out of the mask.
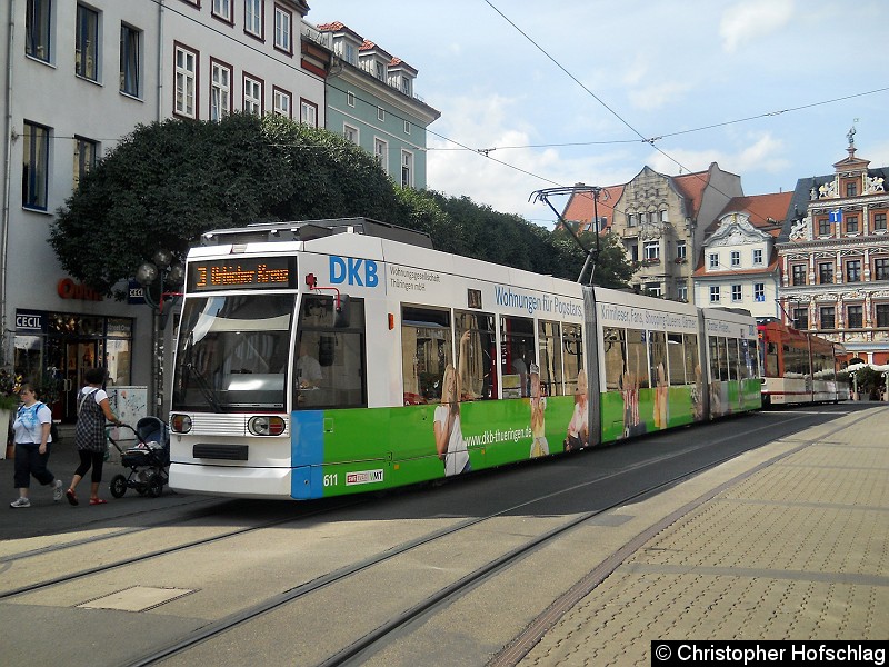
[[[313,499],[761,407],[756,320],[431,248],[366,218],[203,236],[170,487]]]

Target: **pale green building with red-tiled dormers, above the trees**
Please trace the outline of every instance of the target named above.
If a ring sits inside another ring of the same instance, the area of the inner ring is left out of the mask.
[[[417,97],[418,71],[343,23],[318,29],[336,54],[327,79],[327,129],[374,156],[401,187],[424,189],[427,128],[441,113]]]

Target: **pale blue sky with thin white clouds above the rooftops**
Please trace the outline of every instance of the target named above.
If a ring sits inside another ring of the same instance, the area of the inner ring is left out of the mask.
[[[886,0],[313,0],[417,70],[427,186],[545,227],[537,190],[716,161],[745,195],[889,166]],[[487,153],[487,155],[486,155]],[[567,198],[550,200],[561,211]]]

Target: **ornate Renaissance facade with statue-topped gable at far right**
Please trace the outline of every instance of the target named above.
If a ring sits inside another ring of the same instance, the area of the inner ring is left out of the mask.
[[[846,348],[846,360],[889,364],[889,168],[856,157],[855,131],[833,173],[797,181],[778,243],[787,323]]]

